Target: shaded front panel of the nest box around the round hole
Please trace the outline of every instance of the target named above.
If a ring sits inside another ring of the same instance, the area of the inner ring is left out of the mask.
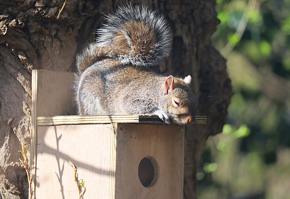
[[[115,199],[183,198],[184,126],[118,124]],[[152,187],[144,187],[138,167],[144,157],[157,162]]]

